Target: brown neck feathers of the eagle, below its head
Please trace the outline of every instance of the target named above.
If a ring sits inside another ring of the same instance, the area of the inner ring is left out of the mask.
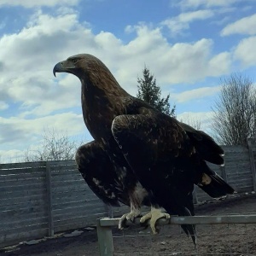
[[[90,134],[96,140],[112,137],[112,121],[117,115],[126,112],[124,98],[130,95],[105,68],[94,67],[94,70],[84,72],[79,79],[82,84],[84,123]]]

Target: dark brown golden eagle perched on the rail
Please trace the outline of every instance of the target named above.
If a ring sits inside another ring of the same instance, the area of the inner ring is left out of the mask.
[[[82,85],[84,123],[94,141],[80,147],[76,162],[90,189],[105,203],[131,207],[133,220],[142,205],[150,205],[150,225],[169,214],[194,215],[194,184],[212,197],[234,189],[213,172],[206,161],[224,164],[224,151],[203,131],[160,113],[129,95],[102,61],[79,54],[57,63],[53,73],[73,73]],[[195,243],[193,225],[182,225]]]

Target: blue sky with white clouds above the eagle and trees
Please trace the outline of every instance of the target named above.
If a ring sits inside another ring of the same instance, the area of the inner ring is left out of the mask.
[[[0,0],[0,17],[0,162],[22,160],[45,128],[90,141],[79,79],[52,74],[70,55],[96,55],[133,96],[147,65],[177,119],[209,132],[220,79],[255,83],[254,0]]]

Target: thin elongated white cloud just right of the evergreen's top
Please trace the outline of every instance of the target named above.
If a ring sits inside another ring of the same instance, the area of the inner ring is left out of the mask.
[[[220,90],[219,86],[215,87],[201,87],[193,90],[185,90],[180,93],[171,93],[170,97],[174,102],[182,103],[189,102],[191,100],[196,100],[200,98],[205,98],[207,96],[212,96]]]

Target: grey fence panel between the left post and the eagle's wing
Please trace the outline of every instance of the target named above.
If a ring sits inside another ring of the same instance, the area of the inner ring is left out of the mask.
[[[95,225],[107,208],[90,190],[74,161],[49,162],[55,232]]]

